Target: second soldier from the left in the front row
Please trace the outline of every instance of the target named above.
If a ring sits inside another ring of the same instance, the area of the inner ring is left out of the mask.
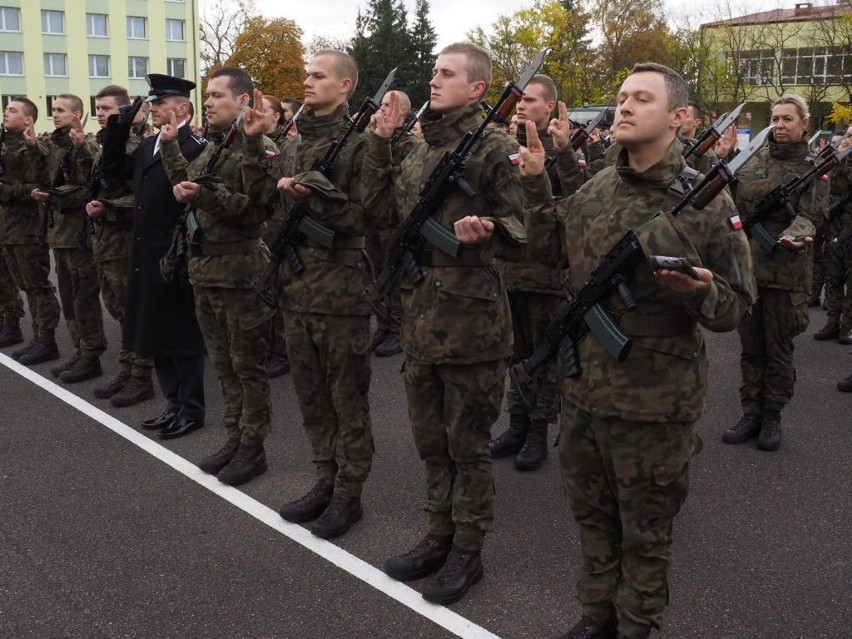
[[[91,157],[97,143],[86,138],[81,119],[83,102],[63,94],[53,102],[50,155],[45,163],[47,190],[33,190],[33,199],[42,202],[46,215],[47,243],[53,249],[59,302],[71,334],[74,355],[50,369],[66,384],[101,375],[101,354],[106,350],[103,311],[98,297],[98,272],[91,241],[78,246],[74,239],[86,217],[89,201],[88,175],[78,166],[80,155]],[[22,360],[24,358],[22,357]]]

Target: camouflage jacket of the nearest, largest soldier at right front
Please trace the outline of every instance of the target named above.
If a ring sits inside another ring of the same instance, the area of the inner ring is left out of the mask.
[[[568,258],[571,283],[579,290],[589,273],[630,229],[636,229],[646,255],[683,256],[713,271],[709,291],[676,295],[657,284],[647,262],[628,278],[638,304],[627,311],[618,295],[604,305],[619,314],[621,330],[632,336],[624,363],[611,357],[597,337],[577,344],[582,374],[562,382],[563,397],[600,417],[643,422],[692,421],[704,410],[708,358],[697,324],[722,332],[736,328],[754,300],[751,256],[742,231],[732,231],[736,212],[727,193],[705,209],[685,208],[677,218],[661,207],[683,170],[682,147],[675,142],[665,158],[643,173],[628,166],[622,149],[609,166],[573,196],[553,203],[543,176],[525,178],[529,208],[528,250],[553,264]]]

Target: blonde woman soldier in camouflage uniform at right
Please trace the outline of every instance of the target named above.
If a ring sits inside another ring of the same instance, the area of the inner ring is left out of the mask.
[[[751,210],[776,186],[807,172],[814,161],[805,139],[808,109],[804,99],[778,98],[771,122],[775,129],[769,143],[739,176],[736,202],[742,212]],[[781,446],[781,409],[793,398],[796,381],[793,338],[808,326],[813,269],[809,244],[825,221],[828,192],[827,178],[818,178],[793,194],[794,219],[783,207],[767,215],[766,230],[779,238],[772,255],[751,239],[759,299],[738,329],[743,417],[722,435],[728,444],[757,436],[761,450]]]

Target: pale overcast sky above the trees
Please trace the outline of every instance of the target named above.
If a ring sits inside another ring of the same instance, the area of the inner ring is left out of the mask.
[[[203,2],[204,0],[202,0]],[[256,0],[259,11],[268,17],[286,16],[296,22],[305,32],[305,42],[316,35],[348,40],[355,32],[355,15],[358,7],[366,6],[366,0]],[[717,16],[712,7],[730,4],[735,14],[789,8],[795,0],[665,0],[670,15],[677,19],[690,11],[709,22]],[[465,34],[477,26],[487,27],[501,14],[532,6],[533,0],[430,0],[432,24],[438,32],[438,46],[464,39]],[[816,4],[816,3],[815,3]],[[409,13],[414,11],[415,0],[405,0]],[[705,9],[698,9],[705,7]],[[711,7],[708,11],[706,7]],[[742,9],[742,11],[739,11]]]

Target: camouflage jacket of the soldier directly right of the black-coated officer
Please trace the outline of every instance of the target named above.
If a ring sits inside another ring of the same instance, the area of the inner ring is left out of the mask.
[[[260,236],[277,199],[270,169],[277,162],[278,148],[265,136],[245,137],[240,131],[230,146],[222,148],[212,172],[202,176],[223,137],[212,133],[211,143],[192,162],[181,155],[177,138],[161,140],[160,153],[173,185],[184,180],[201,184],[192,209],[203,236],[202,255],[189,257],[190,282],[251,288],[254,277],[269,263],[269,250]]]

